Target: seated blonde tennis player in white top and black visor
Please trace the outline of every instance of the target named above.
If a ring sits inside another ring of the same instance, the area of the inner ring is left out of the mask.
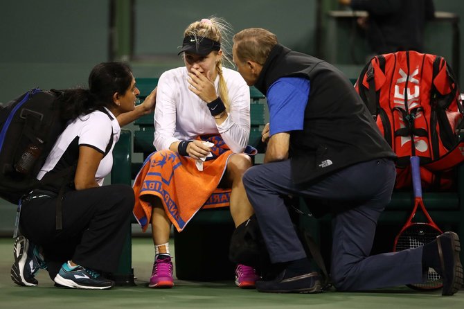
[[[172,288],[171,225],[182,231],[217,188],[231,188],[235,227],[253,213],[242,184],[244,171],[251,167],[251,158],[243,153],[250,132],[250,94],[240,74],[223,67],[224,61],[230,62],[224,48],[227,28],[217,17],[190,24],[179,52],[185,67],[159,78],[154,112],[157,152],[145,160],[134,182],[134,215],[143,231],[152,224],[150,288]],[[222,203],[224,193],[215,197],[217,206],[229,204]],[[240,288],[253,288],[256,279],[252,267],[236,267]]]

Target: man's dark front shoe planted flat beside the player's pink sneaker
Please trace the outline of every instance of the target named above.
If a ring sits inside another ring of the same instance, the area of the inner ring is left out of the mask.
[[[283,270],[276,279],[256,281],[256,290],[270,293],[319,293],[322,290],[321,276],[310,272],[285,278],[287,270]]]

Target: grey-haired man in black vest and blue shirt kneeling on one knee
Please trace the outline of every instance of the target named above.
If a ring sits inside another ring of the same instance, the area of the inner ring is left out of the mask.
[[[265,94],[269,124],[265,163],[245,172],[277,275],[256,281],[260,292],[321,292],[284,199],[310,200],[313,214],[332,213],[331,279],[339,291],[421,283],[429,267],[443,295],[463,284],[458,235],[443,233],[415,249],[369,256],[377,220],[391,200],[395,153],[350,80],[323,60],[278,44],[262,28],[233,37],[233,62],[249,86]]]

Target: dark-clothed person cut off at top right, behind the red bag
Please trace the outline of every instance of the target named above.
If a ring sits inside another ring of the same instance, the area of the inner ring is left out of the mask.
[[[373,53],[424,52],[425,23],[434,18],[434,1],[339,0],[339,3],[369,13],[368,17],[359,17],[358,24],[366,30]]]

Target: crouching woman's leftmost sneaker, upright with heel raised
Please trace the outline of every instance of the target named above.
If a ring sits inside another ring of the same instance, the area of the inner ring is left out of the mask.
[[[17,285],[35,286],[38,283],[35,274],[46,269],[46,263],[39,254],[39,248],[26,237],[19,236],[13,248],[15,263],[11,267],[11,279]]]

